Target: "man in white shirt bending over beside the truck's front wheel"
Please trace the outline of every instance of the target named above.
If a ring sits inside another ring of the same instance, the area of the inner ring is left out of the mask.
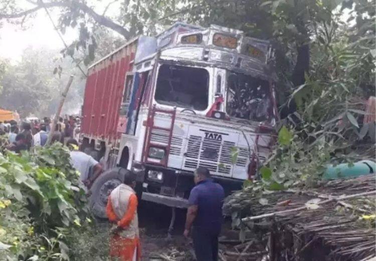
[[[71,149],[71,164],[76,170],[78,170],[78,172],[80,172],[82,183],[90,189],[95,179],[102,173],[102,166],[90,155],[78,151],[78,143],[75,139],[69,139],[67,141],[67,147]],[[92,175],[89,175],[91,169]]]

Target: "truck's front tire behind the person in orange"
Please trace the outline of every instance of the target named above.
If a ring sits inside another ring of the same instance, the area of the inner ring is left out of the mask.
[[[99,218],[107,218],[106,205],[111,191],[123,183],[124,175],[129,170],[124,168],[113,168],[103,172],[90,188],[89,200],[92,213]]]

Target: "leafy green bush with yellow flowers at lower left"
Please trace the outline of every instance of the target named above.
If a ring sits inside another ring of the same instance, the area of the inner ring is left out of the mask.
[[[87,215],[84,191],[69,159],[68,149],[59,143],[22,155],[0,154],[0,255],[9,260],[68,259],[63,228],[85,223]]]

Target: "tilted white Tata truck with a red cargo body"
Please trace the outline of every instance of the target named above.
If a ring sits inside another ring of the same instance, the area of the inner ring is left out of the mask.
[[[187,207],[194,171],[226,193],[253,179],[278,121],[274,50],[242,31],[176,23],[138,36],[88,68],[80,143],[106,166],[90,206],[133,172],[142,200]]]

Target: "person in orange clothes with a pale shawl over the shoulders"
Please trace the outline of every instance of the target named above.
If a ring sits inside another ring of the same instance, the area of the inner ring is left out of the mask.
[[[136,176],[126,172],[124,184],[117,186],[109,195],[106,214],[113,223],[110,239],[110,256],[121,261],[141,260],[138,233],[137,196],[134,192]]]

